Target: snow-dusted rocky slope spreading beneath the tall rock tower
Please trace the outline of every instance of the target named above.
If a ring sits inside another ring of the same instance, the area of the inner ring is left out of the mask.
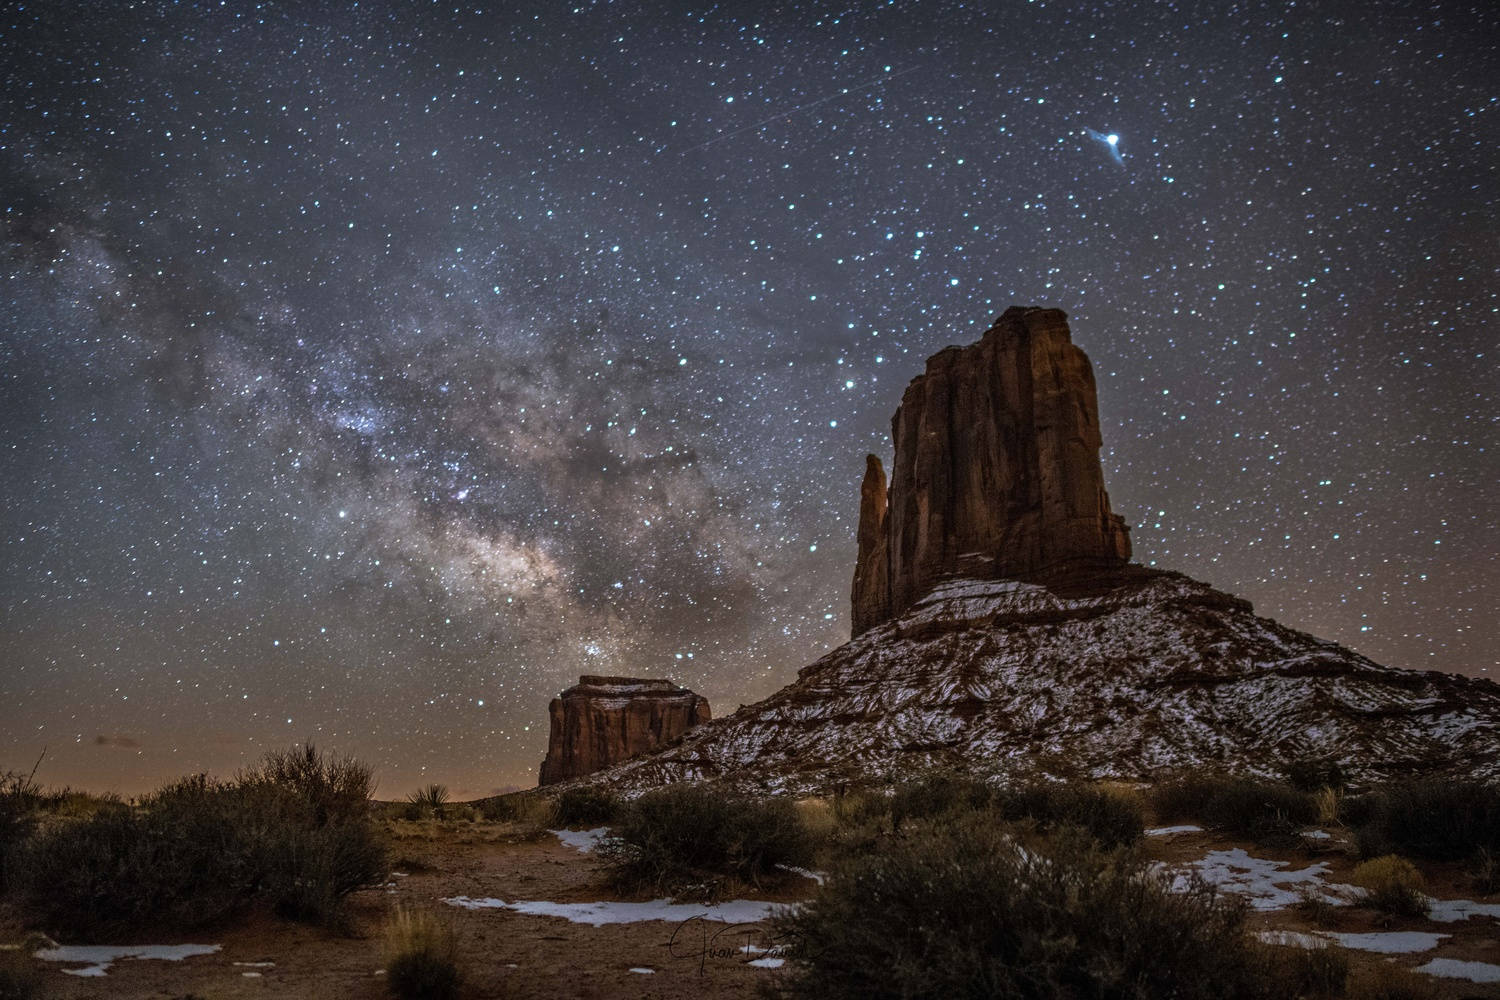
[[[826,792],[924,766],[1500,778],[1500,685],[1396,670],[1176,573],[950,580],[756,705],[598,775]]]

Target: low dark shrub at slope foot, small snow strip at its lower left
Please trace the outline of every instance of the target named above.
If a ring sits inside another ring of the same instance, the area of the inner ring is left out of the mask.
[[[1190,774],[1152,789],[1158,819],[1194,819],[1216,831],[1251,838],[1287,837],[1317,820],[1317,801],[1275,781]]]

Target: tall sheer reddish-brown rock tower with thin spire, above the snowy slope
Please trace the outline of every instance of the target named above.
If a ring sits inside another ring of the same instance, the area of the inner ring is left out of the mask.
[[[1094,370],[1058,309],[1011,307],[978,343],[946,348],[891,420],[886,490],[860,492],[854,634],[950,577],[1032,579],[1130,559],[1100,469]]]

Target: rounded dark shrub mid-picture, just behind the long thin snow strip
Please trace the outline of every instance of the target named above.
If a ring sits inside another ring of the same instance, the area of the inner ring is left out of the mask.
[[[759,883],[778,865],[806,867],[814,841],[790,799],[754,799],[674,784],[627,804],[606,852],[616,885],[670,891],[722,877]]]

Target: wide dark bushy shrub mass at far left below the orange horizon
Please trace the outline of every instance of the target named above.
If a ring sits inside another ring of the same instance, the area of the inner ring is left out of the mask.
[[[344,898],[387,871],[369,787],[368,768],[312,748],[270,754],[234,781],[182,778],[33,837],[20,898],[75,939],[202,927],[254,900],[336,925]]]

